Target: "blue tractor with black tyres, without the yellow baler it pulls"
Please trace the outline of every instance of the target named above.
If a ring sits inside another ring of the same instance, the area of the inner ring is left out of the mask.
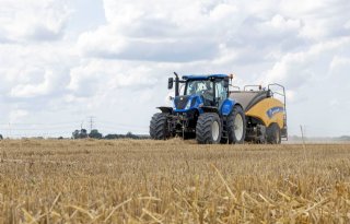
[[[230,98],[232,75],[184,75],[168,79],[168,89],[175,83],[173,107],[158,107],[150,122],[150,135],[165,140],[175,135],[196,139],[200,144],[243,143],[246,134],[245,111]],[[179,93],[179,84],[184,84]]]

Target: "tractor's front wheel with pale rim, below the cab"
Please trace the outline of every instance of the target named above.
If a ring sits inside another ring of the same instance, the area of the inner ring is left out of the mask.
[[[218,114],[205,113],[198,117],[196,139],[199,144],[218,144],[221,132],[222,125]]]

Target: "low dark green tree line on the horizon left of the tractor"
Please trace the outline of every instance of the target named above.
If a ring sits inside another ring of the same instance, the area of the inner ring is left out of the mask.
[[[86,139],[86,138],[109,139],[109,140],[110,139],[149,139],[148,135],[138,135],[138,134],[133,134],[131,132],[128,132],[126,134],[109,133],[104,137],[102,133],[100,133],[100,131],[97,129],[91,130],[90,133],[88,133],[86,129],[75,130],[72,132],[72,139]]]

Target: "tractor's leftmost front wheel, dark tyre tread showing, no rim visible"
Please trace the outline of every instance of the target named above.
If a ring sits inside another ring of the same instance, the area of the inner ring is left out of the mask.
[[[171,137],[167,126],[167,114],[156,113],[150,123],[150,135],[154,140],[165,140]]]

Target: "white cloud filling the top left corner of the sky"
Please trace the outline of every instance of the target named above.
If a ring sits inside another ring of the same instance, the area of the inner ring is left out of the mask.
[[[2,0],[0,43],[57,39],[63,35],[69,14],[65,1]]]

